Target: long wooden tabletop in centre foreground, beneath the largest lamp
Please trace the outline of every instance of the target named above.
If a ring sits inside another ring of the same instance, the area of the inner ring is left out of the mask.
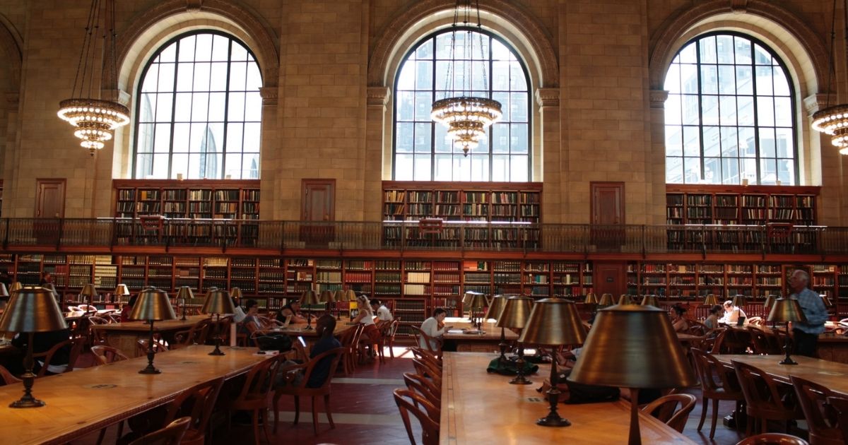
[[[540,365],[534,385],[510,385],[510,377],[488,374],[490,353],[444,353],[439,442],[465,443],[624,443],[630,431],[630,404],[585,403],[557,407],[572,426],[536,425],[548,414],[544,394],[536,392],[550,368]],[[644,443],[695,443],[650,415],[639,414]]]

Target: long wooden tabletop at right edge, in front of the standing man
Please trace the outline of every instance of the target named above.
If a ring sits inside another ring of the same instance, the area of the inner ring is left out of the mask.
[[[835,392],[848,395],[848,364],[832,362],[823,359],[812,359],[802,355],[791,356],[798,364],[779,364],[783,355],[748,355],[748,354],[716,354],[718,361],[728,368],[730,362],[736,360],[760,368],[774,380],[791,384],[789,375],[795,375],[809,381],[824,385]]]

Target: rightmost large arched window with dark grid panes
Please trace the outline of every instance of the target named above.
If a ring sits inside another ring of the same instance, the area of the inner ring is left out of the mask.
[[[795,92],[765,44],[698,36],[672,61],[665,89],[667,183],[795,185]]]

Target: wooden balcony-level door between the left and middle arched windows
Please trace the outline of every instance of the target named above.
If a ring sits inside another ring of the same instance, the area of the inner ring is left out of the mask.
[[[301,181],[300,241],[312,247],[327,247],[334,237],[332,221],[336,220],[336,180],[304,179]]]

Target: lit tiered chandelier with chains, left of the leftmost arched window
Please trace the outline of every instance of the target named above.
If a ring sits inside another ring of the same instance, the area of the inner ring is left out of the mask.
[[[102,47],[98,48],[101,17],[105,23]],[[59,118],[75,127],[74,136],[81,139],[80,146],[88,148],[92,156],[103,148],[103,142],[112,139],[114,129],[130,122],[129,108],[119,103],[117,97],[101,97],[104,80],[114,80],[116,74],[114,0],[92,0],[74,89],[70,99],[59,102],[58,113]],[[100,81],[95,84],[98,75]],[[117,95],[117,91],[114,94]]]

